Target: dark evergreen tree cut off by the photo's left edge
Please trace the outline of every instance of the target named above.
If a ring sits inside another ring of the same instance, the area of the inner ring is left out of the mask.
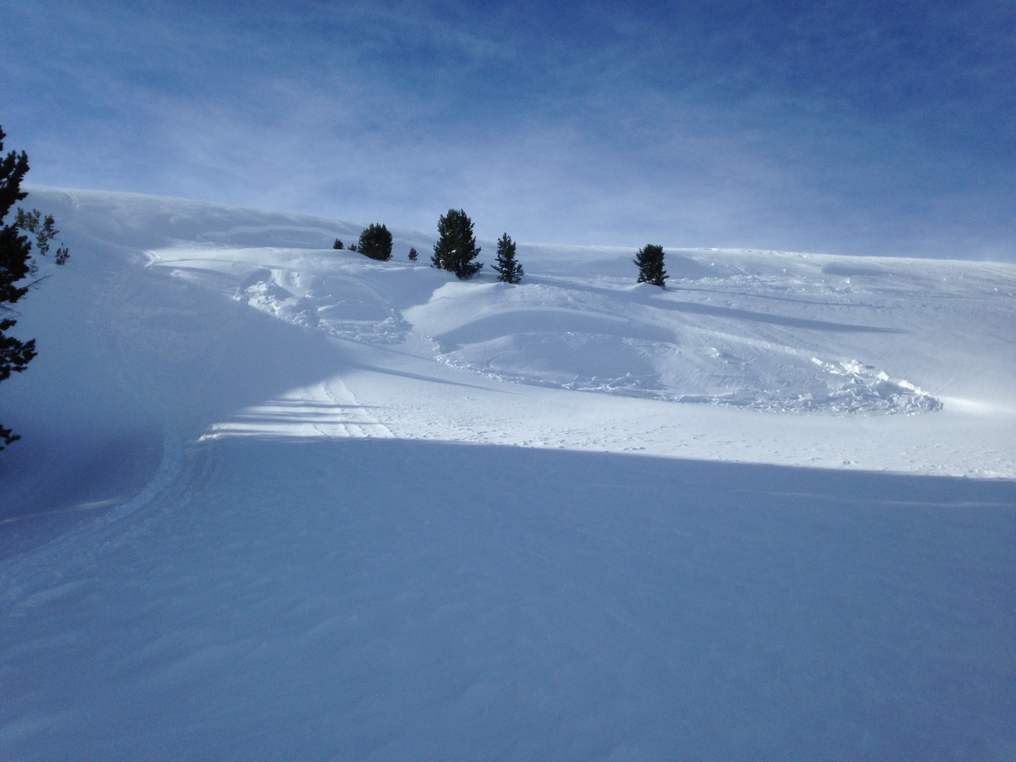
[[[0,128],[0,151],[3,150],[3,139],[6,136],[3,128]],[[0,223],[7,216],[15,201],[28,195],[21,190],[21,180],[27,172],[28,156],[23,150],[20,154],[10,151],[0,158]],[[8,317],[17,314],[11,305],[43,279],[36,278],[20,287],[14,284],[39,271],[39,266],[31,257],[31,242],[18,231],[26,231],[35,236],[36,248],[44,257],[49,254],[50,242],[59,232],[54,228],[52,215],[43,217],[38,209],[24,211],[20,207],[12,225],[0,226],[0,315],[3,316],[0,318],[0,381],[10,378],[11,373],[23,371],[37,355],[36,339],[20,341],[6,333],[17,324],[16,320]],[[69,256],[67,248],[60,246],[54,260],[57,264],[64,264]],[[3,440],[3,445],[0,445],[2,450],[5,445],[20,437],[0,426],[0,439]]]

